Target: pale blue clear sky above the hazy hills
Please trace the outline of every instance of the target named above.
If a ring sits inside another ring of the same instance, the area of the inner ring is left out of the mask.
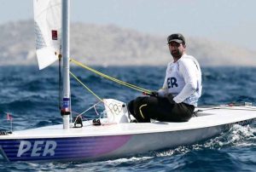
[[[255,0],[70,0],[71,22],[115,25],[152,35],[181,32],[256,50]],[[0,25],[32,20],[32,0],[0,0]]]

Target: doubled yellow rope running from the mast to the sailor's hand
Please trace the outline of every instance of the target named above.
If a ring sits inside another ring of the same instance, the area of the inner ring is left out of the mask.
[[[94,72],[94,73],[96,73],[97,75],[102,76],[102,77],[105,77],[105,78],[107,78],[107,79],[109,79],[109,80],[111,80],[111,81],[113,81],[113,82],[115,82],[115,83],[119,83],[119,84],[125,85],[126,87],[129,87],[129,88],[131,88],[131,89],[136,89],[136,90],[139,91],[139,92],[146,92],[146,93],[148,93],[148,94],[151,93],[151,91],[148,90],[148,89],[143,89],[143,88],[138,87],[138,86],[136,86],[136,85],[133,85],[133,84],[131,84],[131,83],[125,83],[124,81],[121,81],[121,80],[119,80],[119,79],[117,79],[117,78],[110,77],[110,76],[108,76],[108,75],[106,75],[106,74],[104,74],[104,73],[102,73],[102,72],[98,72],[98,71],[96,71],[95,69],[90,68],[89,66],[83,65],[82,63],[80,63],[80,62],[77,61],[77,60],[70,59],[70,61],[72,61],[73,63],[75,63],[75,64],[78,65],[78,66],[83,67],[84,69],[89,70],[90,72]]]

